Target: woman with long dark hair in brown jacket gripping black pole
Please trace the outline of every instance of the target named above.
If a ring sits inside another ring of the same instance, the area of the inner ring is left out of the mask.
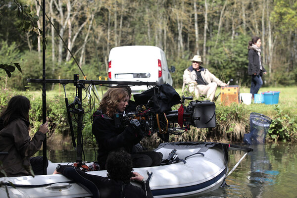
[[[14,96],[0,116],[0,152],[8,152],[8,155],[0,155],[0,161],[8,177],[31,175],[30,169],[35,175],[43,173],[43,157],[31,156],[41,148],[49,131],[48,122],[41,125],[31,139],[28,131],[30,109],[29,99]]]

